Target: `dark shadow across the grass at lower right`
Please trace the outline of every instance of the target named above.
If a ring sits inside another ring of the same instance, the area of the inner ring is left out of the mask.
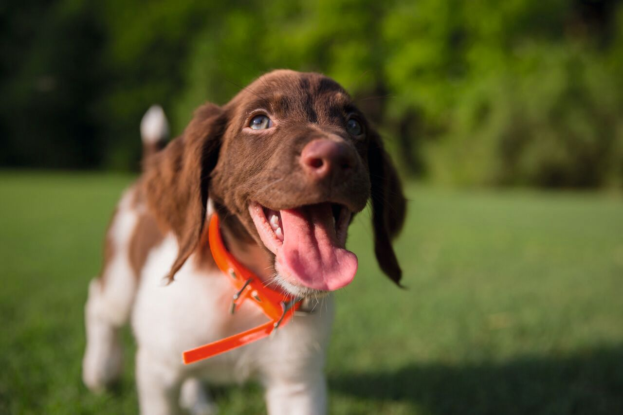
[[[623,414],[623,346],[500,363],[413,363],[331,376],[330,390],[432,414]]]

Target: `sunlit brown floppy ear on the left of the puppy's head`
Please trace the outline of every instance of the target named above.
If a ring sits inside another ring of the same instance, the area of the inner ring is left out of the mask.
[[[206,221],[207,188],[226,126],[224,111],[207,103],[195,112],[184,134],[145,166],[145,191],[161,227],[178,239],[169,282],[193,253]]]

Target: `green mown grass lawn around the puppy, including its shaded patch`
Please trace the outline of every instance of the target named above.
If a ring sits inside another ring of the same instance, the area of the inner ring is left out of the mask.
[[[133,414],[133,350],[114,391],[80,381],[82,308],[129,176],[0,173],[0,413]],[[623,413],[623,201],[411,185],[397,244],[408,290],[371,254],[336,294],[333,414]],[[222,414],[264,411],[254,384]]]

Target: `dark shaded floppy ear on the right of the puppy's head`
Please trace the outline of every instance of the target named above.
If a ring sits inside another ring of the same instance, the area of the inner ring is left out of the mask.
[[[374,254],[381,270],[400,285],[402,270],[396,259],[391,240],[404,224],[406,200],[402,185],[383,141],[376,131],[371,131],[368,147],[370,171],[372,222],[374,228]]]

